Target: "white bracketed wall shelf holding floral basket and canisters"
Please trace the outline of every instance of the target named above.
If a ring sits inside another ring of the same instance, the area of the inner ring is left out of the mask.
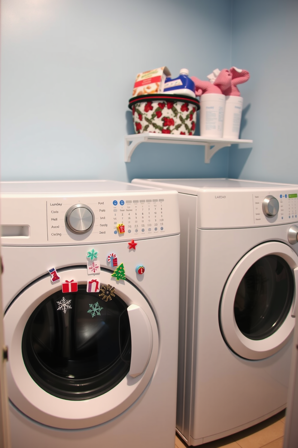
[[[205,146],[205,163],[209,164],[211,157],[225,146],[235,143],[252,143],[252,140],[231,140],[230,138],[208,138],[197,135],[155,134],[143,132],[143,134],[131,134],[125,137],[124,161],[130,162],[135,148],[143,142],[151,143],[176,143],[178,145]],[[211,147],[212,146],[212,147]]]

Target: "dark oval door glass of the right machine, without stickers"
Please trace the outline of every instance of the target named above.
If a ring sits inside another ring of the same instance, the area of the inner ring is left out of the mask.
[[[243,276],[235,296],[239,330],[253,340],[272,335],[288,315],[293,294],[293,275],[285,260],[277,255],[260,258]]]

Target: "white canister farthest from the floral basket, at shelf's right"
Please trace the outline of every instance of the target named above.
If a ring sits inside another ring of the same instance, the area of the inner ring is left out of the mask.
[[[226,96],[223,138],[239,138],[242,106],[243,98],[241,96]]]

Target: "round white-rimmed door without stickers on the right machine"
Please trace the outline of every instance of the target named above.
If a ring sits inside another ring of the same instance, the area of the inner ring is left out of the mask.
[[[219,309],[224,339],[239,356],[263,359],[290,339],[297,299],[298,256],[272,241],[250,250],[231,272]]]

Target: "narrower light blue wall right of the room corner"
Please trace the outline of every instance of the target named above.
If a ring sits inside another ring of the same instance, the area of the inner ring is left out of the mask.
[[[253,146],[230,150],[229,176],[298,183],[298,1],[233,0],[232,64],[251,74],[239,90]]]

